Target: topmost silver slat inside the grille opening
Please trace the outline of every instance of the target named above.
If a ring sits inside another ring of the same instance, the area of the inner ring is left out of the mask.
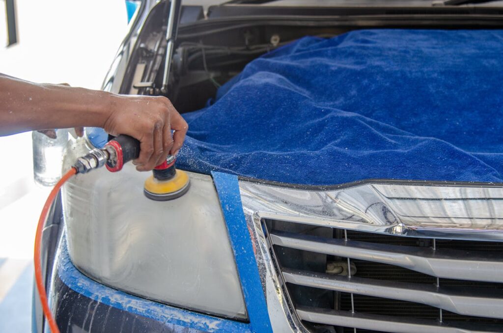
[[[270,234],[274,244],[400,266],[416,272],[446,279],[503,283],[503,261],[465,251],[442,251],[425,247],[396,246],[343,239],[322,238],[275,231]],[[456,256],[457,255],[457,256]]]

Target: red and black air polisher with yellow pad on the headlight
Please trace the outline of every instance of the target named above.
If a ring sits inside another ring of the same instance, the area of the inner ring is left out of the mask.
[[[138,158],[140,142],[135,138],[121,134],[105,144],[103,149],[93,149],[87,155],[77,159],[73,165],[78,173],[85,174],[105,165],[108,171],[122,170],[124,163]],[[156,201],[173,200],[189,191],[190,180],[187,173],[175,168],[175,156],[168,155],[166,160],[152,170],[147,178],[143,193]]]

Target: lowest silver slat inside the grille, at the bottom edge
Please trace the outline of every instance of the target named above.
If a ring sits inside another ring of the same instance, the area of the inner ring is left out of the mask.
[[[401,318],[391,316],[351,313],[348,311],[336,311],[321,308],[300,307],[297,309],[297,314],[302,320],[323,323],[326,325],[348,326],[396,333],[487,333],[488,331],[500,331],[500,329],[496,328],[498,326],[494,325],[477,324],[476,327],[474,327],[475,325],[466,325],[466,328],[464,328],[465,325],[462,324],[460,324],[459,327],[443,326],[433,320],[401,320]]]

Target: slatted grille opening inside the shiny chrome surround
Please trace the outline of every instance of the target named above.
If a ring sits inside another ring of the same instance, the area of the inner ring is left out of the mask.
[[[290,302],[311,331],[503,331],[503,242],[265,226]],[[356,272],[327,274],[329,262]]]

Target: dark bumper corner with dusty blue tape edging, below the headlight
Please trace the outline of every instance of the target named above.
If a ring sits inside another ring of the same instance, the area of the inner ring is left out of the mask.
[[[250,331],[249,323],[222,319],[136,297],[80,273],[63,235],[50,288],[62,332]]]

